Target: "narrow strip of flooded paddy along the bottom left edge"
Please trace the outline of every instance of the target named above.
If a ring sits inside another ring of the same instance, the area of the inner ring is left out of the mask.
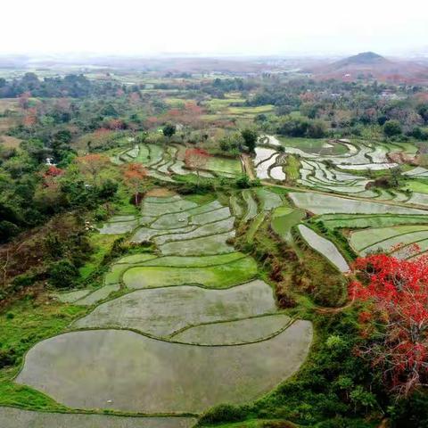
[[[131,417],[31,412],[0,407],[2,428],[191,428],[193,417]]]

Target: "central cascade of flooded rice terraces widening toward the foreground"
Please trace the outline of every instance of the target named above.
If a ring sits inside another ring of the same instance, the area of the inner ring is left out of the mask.
[[[284,205],[267,189],[234,196],[242,220]],[[59,296],[91,311],[29,350],[17,383],[74,408],[179,415],[257,399],[298,370],[312,325],[278,311],[255,260],[235,251],[228,206],[148,197],[140,216],[108,224],[129,222],[131,239],[156,251],[116,260],[98,290]],[[185,428],[193,420],[147,421]]]

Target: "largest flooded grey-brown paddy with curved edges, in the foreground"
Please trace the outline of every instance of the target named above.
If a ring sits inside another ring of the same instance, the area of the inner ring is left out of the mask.
[[[237,346],[161,342],[120,330],[71,332],[29,350],[16,382],[69,407],[201,412],[268,392],[300,367],[311,337],[304,321]]]

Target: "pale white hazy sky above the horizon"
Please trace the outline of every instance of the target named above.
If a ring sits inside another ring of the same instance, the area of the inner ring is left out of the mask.
[[[4,0],[0,53],[428,51],[428,0]]]

